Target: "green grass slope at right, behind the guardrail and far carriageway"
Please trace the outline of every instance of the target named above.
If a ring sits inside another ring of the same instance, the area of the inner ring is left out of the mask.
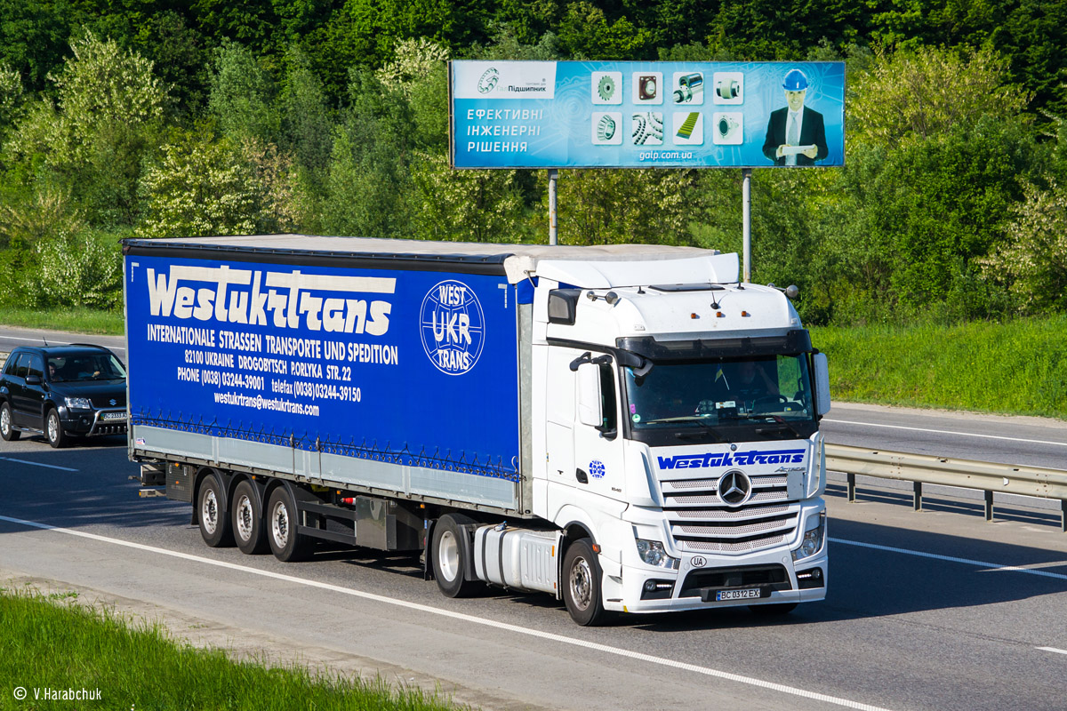
[[[849,402],[1067,419],[1067,317],[813,328]]]

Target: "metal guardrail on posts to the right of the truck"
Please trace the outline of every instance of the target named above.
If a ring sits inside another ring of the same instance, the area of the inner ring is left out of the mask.
[[[973,462],[928,454],[887,452],[846,445],[826,446],[826,468],[848,476],[848,501],[856,501],[856,475],[911,482],[913,506],[923,507],[923,484],[978,489],[985,494],[986,520],[993,520],[993,494],[1056,499],[1060,530],[1067,533],[1067,471]]]

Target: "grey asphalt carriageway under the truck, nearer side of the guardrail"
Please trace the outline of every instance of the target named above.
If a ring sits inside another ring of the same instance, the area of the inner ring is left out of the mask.
[[[966,501],[914,514],[893,490],[847,504],[834,485],[826,601],[583,629],[547,596],[444,598],[408,558],[209,549],[189,506],[139,499],[123,440],[106,445],[0,442],[0,585],[55,581],[187,635],[436,679],[490,709],[1067,707],[1067,536],[1039,511],[989,524]]]

